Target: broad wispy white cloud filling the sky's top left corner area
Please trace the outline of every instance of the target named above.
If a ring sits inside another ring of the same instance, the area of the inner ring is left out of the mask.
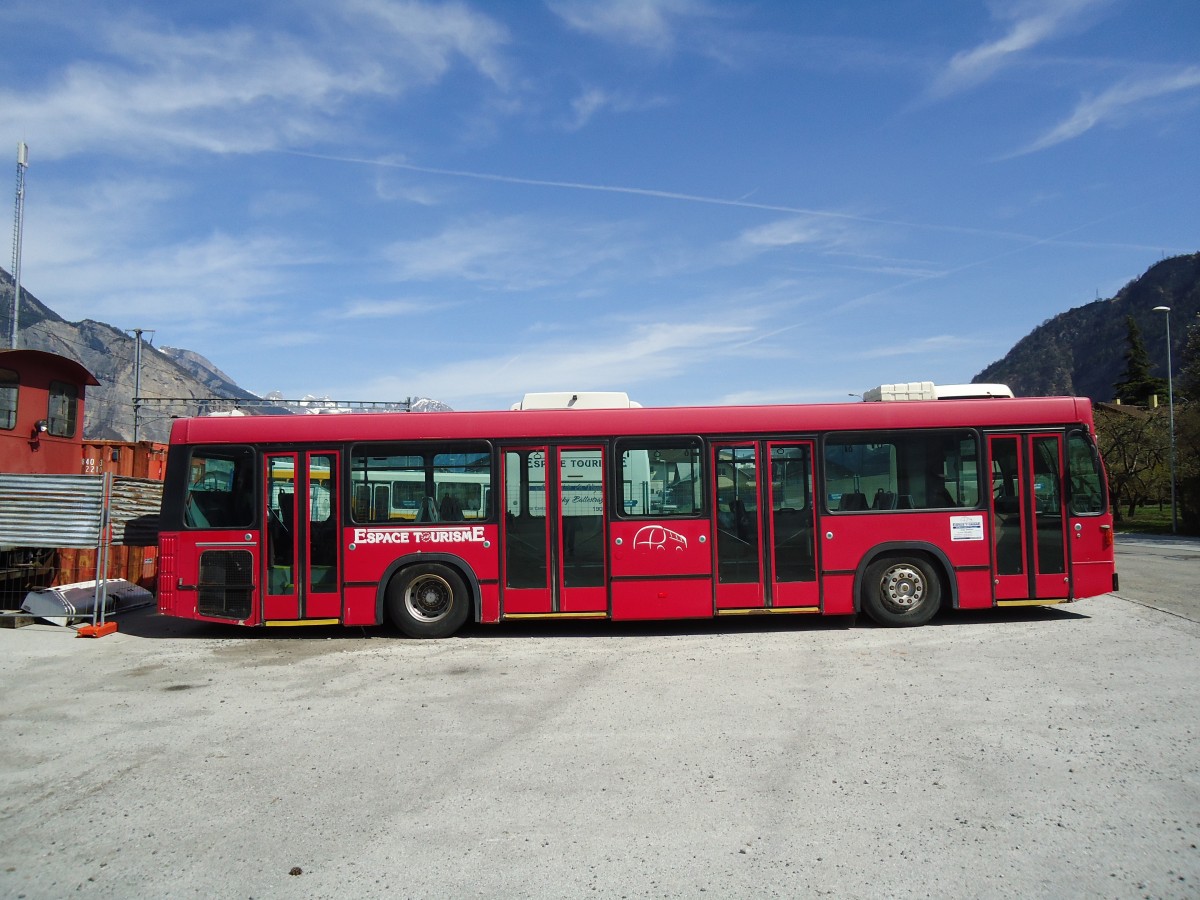
[[[406,94],[458,64],[508,80],[506,31],[462,4],[358,0],[325,16],[320,40],[302,17],[290,31],[101,19],[90,59],[41,89],[0,90],[0,125],[37,134],[47,158],[248,152],[332,136],[353,100]]]

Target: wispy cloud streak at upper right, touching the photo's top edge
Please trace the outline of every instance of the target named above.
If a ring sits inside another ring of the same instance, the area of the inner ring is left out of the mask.
[[[1038,44],[1075,26],[1080,17],[1110,0],[1020,0],[996,7],[996,17],[1009,23],[998,38],[956,53],[929,89],[934,98],[968,90],[986,82]]]

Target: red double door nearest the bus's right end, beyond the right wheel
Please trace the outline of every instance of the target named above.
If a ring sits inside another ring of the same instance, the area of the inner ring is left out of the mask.
[[[992,434],[995,596],[1051,600],[1069,594],[1061,434]]]

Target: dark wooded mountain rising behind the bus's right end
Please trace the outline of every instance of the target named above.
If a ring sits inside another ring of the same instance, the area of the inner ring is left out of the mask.
[[[1018,396],[1073,394],[1110,401],[1126,366],[1127,316],[1138,323],[1157,373],[1165,377],[1166,322],[1156,306],[1171,307],[1171,364],[1177,374],[1187,328],[1200,314],[1200,253],[1156,263],[1116,296],[1046,319],[973,380],[1007,384]]]

